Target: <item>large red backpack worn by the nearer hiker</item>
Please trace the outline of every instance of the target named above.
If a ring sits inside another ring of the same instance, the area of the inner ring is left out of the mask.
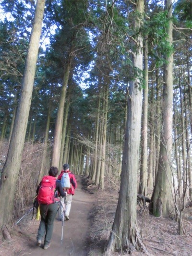
[[[37,200],[39,204],[49,205],[54,202],[54,192],[56,188],[56,178],[44,176],[39,187]]]

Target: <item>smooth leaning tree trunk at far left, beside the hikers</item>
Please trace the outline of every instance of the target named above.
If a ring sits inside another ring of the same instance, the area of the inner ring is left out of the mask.
[[[12,219],[15,187],[19,174],[27,120],[36,72],[36,60],[41,35],[45,0],[37,0],[29,48],[25,63],[21,97],[15,117],[12,137],[0,180],[0,228]],[[9,193],[7,193],[9,191]]]

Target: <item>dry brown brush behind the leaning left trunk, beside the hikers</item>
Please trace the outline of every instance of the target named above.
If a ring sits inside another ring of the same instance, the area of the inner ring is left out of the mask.
[[[8,143],[1,143],[0,171],[6,160]],[[33,203],[36,195],[36,183],[43,159],[44,143],[26,142],[22,153],[22,162],[16,184],[13,217],[18,218]],[[47,147],[47,156],[44,162],[44,174],[50,167],[50,146]]]

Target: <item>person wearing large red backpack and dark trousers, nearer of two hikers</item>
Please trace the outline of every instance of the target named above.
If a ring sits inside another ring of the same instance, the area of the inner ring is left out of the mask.
[[[67,195],[67,192],[64,192],[62,189],[61,183],[56,181],[58,172],[58,168],[52,166],[48,171],[48,176],[43,177],[36,190],[41,214],[41,221],[36,237],[37,246],[41,246],[45,235],[44,249],[47,249],[50,246],[54,219],[56,217],[59,205],[58,203],[60,201],[60,199],[57,198],[57,193],[60,193],[61,198]]]

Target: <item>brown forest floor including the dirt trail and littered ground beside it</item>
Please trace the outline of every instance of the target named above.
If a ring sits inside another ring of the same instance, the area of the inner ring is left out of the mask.
[[[101,256],[108,240],[118,202],[118,188],[105,183],[105,190],[85,182],[76,175],[78,187],[73,196],[70,220],[62,222],[56,217],[51,246],[43,250],[36,246],[39,220],[33,220],[32,212],[24,217],[11,232],[11,240],[0,240],[0,256]],[[142,231],[146,255],[192,255],[192,208],[185,211],[183,226],[185,235],[178,235],[178,223],[169,218],[155,218],[148,210],[137,211],[138,224]],[[15,221],[16,222],[16,221]],[[119,256],[114,253],[113,256]],[[143,255],[133,252],[132,255]]]

